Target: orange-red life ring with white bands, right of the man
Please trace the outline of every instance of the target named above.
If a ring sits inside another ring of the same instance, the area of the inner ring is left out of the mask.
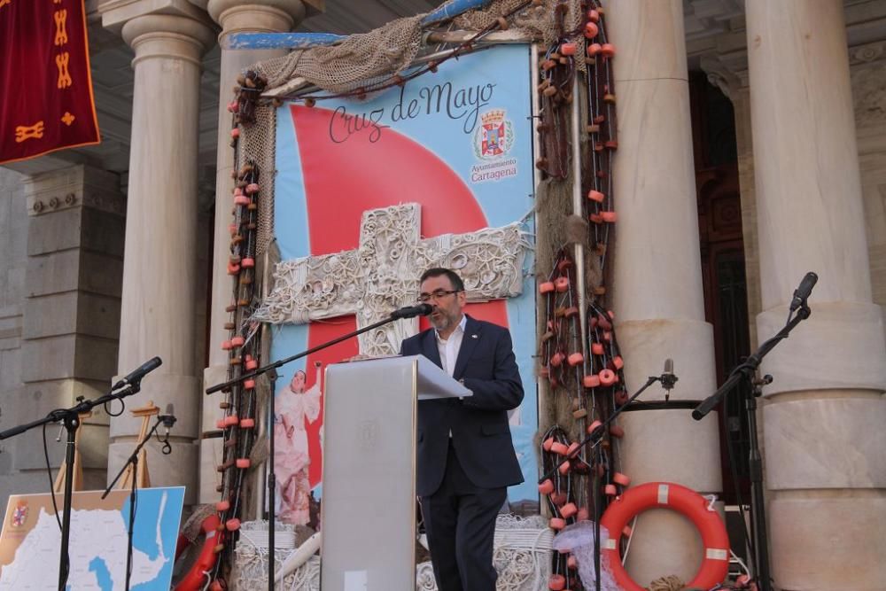
[[[704,558],[702,566],[687,587],[710,589],[726,579],[729,571],[729,536],[722,519],[701,494],[671,482],[648,482],[634,486],[616,498],[603,513],[600,525],[610,534],[602,548],[609,559],[612,578],[625,591],[644,591],[621,565],[618,542],[622,530],[635,515],[648,509],[673,509],[689,518],[702,534]]]

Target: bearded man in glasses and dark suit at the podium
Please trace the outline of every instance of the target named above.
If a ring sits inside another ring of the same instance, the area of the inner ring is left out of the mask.
[[[523,400],[508,330],[464,315],[464,284],[431,268],[419,300],[433,304],[432,329],[407,338],[400,354],[422,354],[472,395],[418,404],[418,478],[424,528],[440,591],[494,591],[495,517],[507,487],[523,482],[508,411]]]

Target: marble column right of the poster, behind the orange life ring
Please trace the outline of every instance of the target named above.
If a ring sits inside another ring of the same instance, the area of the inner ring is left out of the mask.
[[[622,466],[633,484],[664,480],[718,494],[717,415],[701,422],[690,416],[690,401],[716,384],[712,330],[704,322],[682,3],[618,0],[605,7],[617,51],[611,301],[618,342],[630,392],[660,374],[666,357],[680,378],[670,405],[623,415]],[[663,399],[658,385],[641,396]],[[641,586],[668,574],[689,580],[702,557],[687,519],[652,511],[639,519],[627,569]]]

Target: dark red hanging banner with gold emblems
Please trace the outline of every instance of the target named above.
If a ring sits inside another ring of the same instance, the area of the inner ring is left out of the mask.
[[[0,162],[98,144],[84,0],[0,0]]]

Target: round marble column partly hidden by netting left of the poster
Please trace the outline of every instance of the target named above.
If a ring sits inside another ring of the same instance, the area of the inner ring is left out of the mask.
[[[233,150],[230,148],[231,113],[227,105],[233,98],[231,89],[237,76],[246,68],[260,61],[285,55],[287,50],[226,50],[225,37],[235,33],[281,33],[297,27],[305,17],[306,3],[302,0],[253,0],[244,4],[239,0],[209,0],[206,10],[221,25],[221,82],[219,84],[218,156],[215,181],[215,242],[213,255],[213,292],[209,329],[209,367],[204,369],[206,386],[219,384],[228,379],[228,355],[221,350],[221,341],[229,338],[224,324],[229,314],[225,312],[231,302],[232,284],[227,273],[231,222],[231,191],[234,180]],[[219,394],[205,400],[202,430],[214,431],[215,421],[221,416],[218,408]],[[215,470],[221,463],[221,439],[204,439],[200,447],[200,502],[218,501],[215,487],[221,484],[221,474]]]

